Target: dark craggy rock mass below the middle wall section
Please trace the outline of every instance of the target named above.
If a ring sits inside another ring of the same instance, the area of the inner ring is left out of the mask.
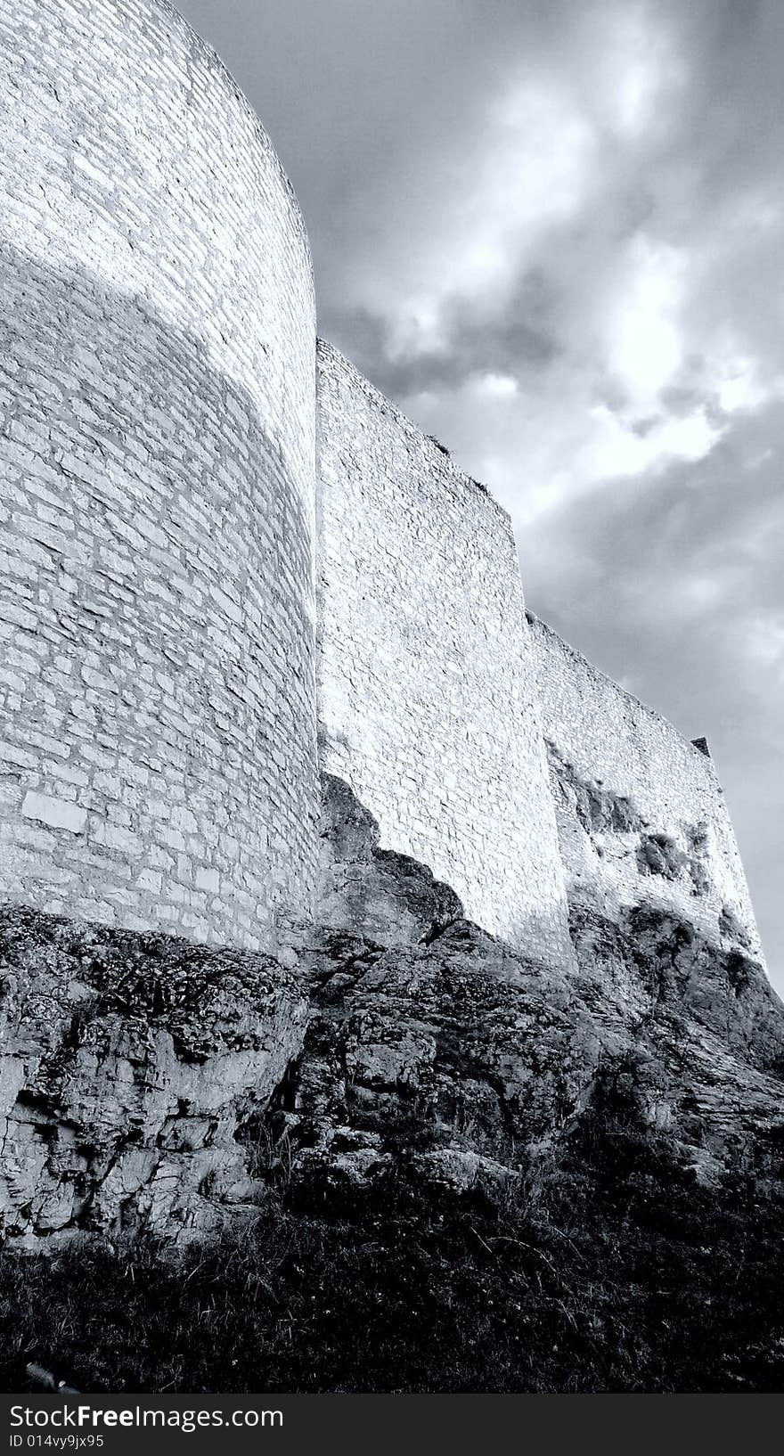
[[[313,1018],[276,1128],[295,1176],[365,1181],[407,1149],[436,1181],[497,1181],[591,1083],[601,1035],[567,978],[465,920],[429,945],[321,932],[303,960]]]

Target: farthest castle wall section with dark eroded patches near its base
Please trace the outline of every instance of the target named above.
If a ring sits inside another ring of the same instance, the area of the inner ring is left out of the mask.
[[[710,757],[529,617],[569,898],[614,917],[673,910],[714,943],[761,955]]]

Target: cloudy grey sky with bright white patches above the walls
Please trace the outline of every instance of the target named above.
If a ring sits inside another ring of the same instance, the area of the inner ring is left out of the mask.
[[[179,0],[320,332],[512,513],[528,604],[727,791],[784,990],[781,0]]]

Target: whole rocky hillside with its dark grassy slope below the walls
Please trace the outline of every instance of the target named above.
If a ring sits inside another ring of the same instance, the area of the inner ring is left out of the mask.
[[[726,927],[575,903],[540,964],[339,783],[323,877],[287,968],[6,914],[4,1388],[783,1389],[784,1008]]]

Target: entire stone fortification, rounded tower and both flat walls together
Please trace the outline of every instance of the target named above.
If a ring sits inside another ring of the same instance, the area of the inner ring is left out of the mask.
[[[566,890],[758,952],[710,760],[534,658],[506,514],[327,345],[317,501],[307,237],[214,52],[166,0],[0,0],[0,900],[273,948],[320,652],[362,903],[394,852],[537,958]]]

